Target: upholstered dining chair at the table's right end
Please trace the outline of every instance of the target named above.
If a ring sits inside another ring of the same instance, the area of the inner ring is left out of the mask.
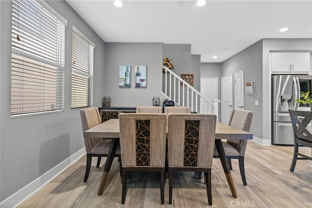
[[[232,109],[229,117],[229,126],[249,132],[254,113],[252,111]],[[232,170],[231,159],[238,159],[240,176],[244,186],[247,186],[244,158],[247,148],[247,139],[227,139],[226,142],[222,141],[225,155],[227,157],[230,170]],[[218,151],[214,150],[214,158],[219,158]],[[201,178],[200,174],[198,178]]]

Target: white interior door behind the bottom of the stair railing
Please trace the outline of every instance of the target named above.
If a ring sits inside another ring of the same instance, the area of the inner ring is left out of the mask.
[[[218,98],[218,78],[217,77],[201,77],[200,78],[200,94],[212,101]],[[206,108],[206,111],[205,111]],[[213,108],[209,109],[208,104],[204,100],[200,99],[200,113],[213,113]]]

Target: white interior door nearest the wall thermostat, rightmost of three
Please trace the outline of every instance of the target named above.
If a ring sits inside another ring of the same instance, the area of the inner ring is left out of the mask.
[[[244,71],[234,74],[234,108],[244,109]]]

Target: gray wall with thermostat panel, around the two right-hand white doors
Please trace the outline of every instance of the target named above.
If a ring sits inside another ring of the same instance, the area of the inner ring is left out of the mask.
[[[252,132],[254,136],[262,138],[262,40],[223,61],[221,63],[221,68],[221,76],[223,77],[232,74],[233,83],[234,73],[242,70],[244,70],[244,82],[254,82],[254,94],[244,94],[244,109],[254,112],[250,132]],[[255,100],[259,101],[258,106],[254,105]]]

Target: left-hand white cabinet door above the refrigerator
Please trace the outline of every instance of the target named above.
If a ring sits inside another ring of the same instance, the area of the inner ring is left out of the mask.
[[[271,53],[272,72],[291,72],[291,53]]]

